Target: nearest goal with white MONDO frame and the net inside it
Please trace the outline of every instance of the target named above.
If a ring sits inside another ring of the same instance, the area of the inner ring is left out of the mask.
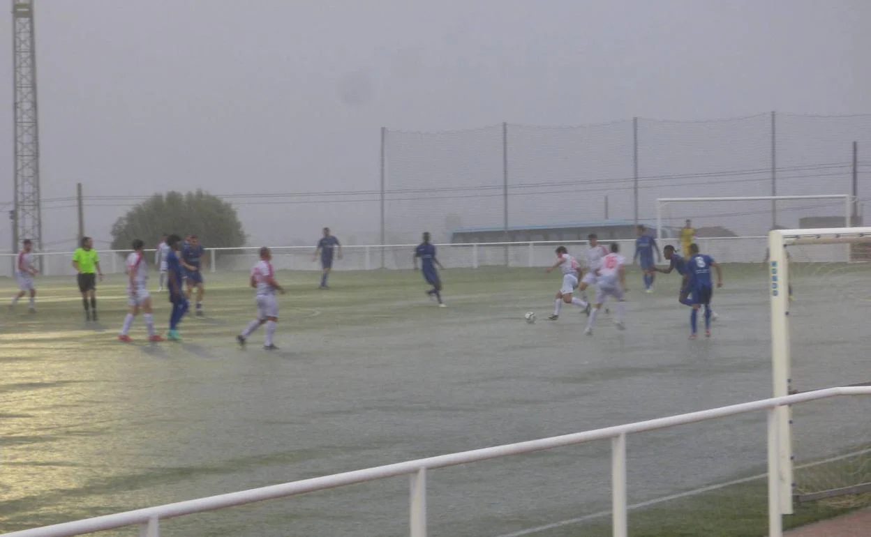
[[[871,384],[865,314],[871,302],[871,265],[846,262],[869,243],[871,227],[768,234],[774,396]],[[871,493],[868,402],[820,401],[781,410],[784,512],[793,513],[796,501],[866,503],[868,496],[861,495]]]

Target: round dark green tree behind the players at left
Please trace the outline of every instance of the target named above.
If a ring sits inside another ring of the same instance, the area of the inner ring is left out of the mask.
[[[188,233],[207,247],[234,247],[245,244],[245,232],[233,205],[208,192],[166,192],[127,211],[111,227],[113,250],[127,250],[134,238],[145,245],[157,242],[161,233]]]

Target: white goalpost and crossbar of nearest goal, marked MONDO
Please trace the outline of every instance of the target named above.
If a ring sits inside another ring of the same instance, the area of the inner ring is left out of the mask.
[[[847,221],[849,218],[847,218]],[[871,240],[871,227],[843,227],[798,230],[773,230],[768,232],[768,274],[771,292],[771,353],[773,396],[780,397],[793,392],[792,359],[789,345],[789,245],[832,245]],[[780,510],[793,514],[793,438],[791,410],[781,406],[776,411],[779,429],[780,464]]]

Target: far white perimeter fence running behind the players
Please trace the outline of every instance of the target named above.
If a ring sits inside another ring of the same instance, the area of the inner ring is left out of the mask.
[[[760,263],[766,255],[767,237],[719,237],[696,240],[703,253],[711,255],[720,263]],[[635,254],[634,239],[601,241],[608,245],[617,242],[620,252],[631,259]],[[660,249],[679,244],[675,239],[666,239]],[[565,245],[577,258],[583,258],[585,240],[536,241],[515,243],[469,243],[436,245],[437,256],[448,268],[478,268],[481,266],[534,267],[553,263],[554,250]],[[410,269],[415,245],[365,245],[344,246],[343,257],[335,258],[334,270],[368,271],[379,268]],[[248,271],[258,260],[259,246],[242,248],[206,248],[206,265],[209,272]],[[276,270],[320,270],[320,260],[313,259],[314,248],[308,246],[273,246],[273,265]],[[124,259],[129,251],[98,250],[100,265],[106,274],[124,272]],[[148,251],[153,260],[153,251]],[[845,245],[793,246],[790,248],[793,262],[831,263],[846,262],[848,249]],[[11,276],[15,253],[0,254],[0,276]],[[72,275],[72,252],[37,253],[44,276]],[[862,256],[865,260],[864,257]]]

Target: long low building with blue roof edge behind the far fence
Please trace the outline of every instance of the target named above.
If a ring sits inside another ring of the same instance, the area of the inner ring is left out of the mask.
[[[645,224],[646,225],[646,224]],[[656,226],[647,226],[656,235]],[[591,220],[548,225],[511,225],[507,236],[503,227],[461,227],[451,232],[452,243],[537,242],[586,240],[596,233],[599,240],[635,238],[635,223],[631,220]],[[663,237],[676,237],[677,228],[664,227]]]

